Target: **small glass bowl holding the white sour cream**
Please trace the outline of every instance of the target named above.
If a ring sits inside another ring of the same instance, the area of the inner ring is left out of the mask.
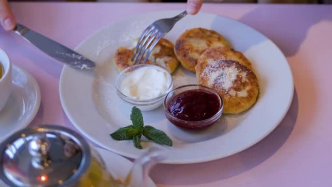
[[[163,93],[161,96],[158,96],[156,98],[151,98],[151,99],[147,99],[147,100],[137,100],[137,99],[134,99],[132,97],[129,97],[129,96],[126,96],[125,94],[123,94],[120,89],[123,78],[126,77],[128,75],[128,73],[131,73],[139,68],[145,68],[145,67],[152,67],[152,68],[158,69],[158,70],[166,73],[169,85],[168,85],[165,93]],[[142,111],[150,111],[150,110],[158,108],[160,105],[163,104],[163,101],[164,101],[167,93],[173,89],[173,81],[172,81],[172,76],[168,73],[168,71],[166,69],[161,68],[159,66],[155,66],[155,65],[139,64],[139,65],[134,65],[134,66],[131,66],[131,67],[128,67],[128,68],[125,68],[124,70],[122,70],[116,77],[115,87],[116,87],[117,95],[123,101],[125,101],[133,106],[136,106],[137,108],[139,108]]]

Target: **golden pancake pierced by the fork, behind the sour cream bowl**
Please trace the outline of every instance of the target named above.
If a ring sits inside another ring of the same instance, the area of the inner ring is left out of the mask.
[[[136,46],[137,41],[134,42],[133,46]],[[169,73],[172,73],[178,66],[179,61],[176,58],[173,50],[173,44],[162,38],[157,45],[153,48],[147,64],[153,64],[165,68]],[[132,56],[134,48],[128,49],[125,47],[119,47],[113,57],[114,64],[119,71],[133,65]],[[143,63],[143,59],[141,61]]]

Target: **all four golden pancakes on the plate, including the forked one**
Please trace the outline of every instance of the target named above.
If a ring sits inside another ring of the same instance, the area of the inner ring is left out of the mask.
[[[133,51],[134,47],[116,50],[113,60],[119,71],[133,65]],[[187,30],[175,45],[162,38],[148,59],[148,64],[165,68],[169,73],[174,72],[179,61],[183,68],[196,72],[199,85],[215,89],[223,98],[223,113],[241,113],[257,100],[259,86],[251,63],[216,31],[203,28]]]

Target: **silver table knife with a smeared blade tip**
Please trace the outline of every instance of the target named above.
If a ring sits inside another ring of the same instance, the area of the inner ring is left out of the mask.
[[[72,68],[93,69],[96,64],[85,58],[83,55],[51,40],[50,38],[36,33],[22,24],[17,24],[15,33],[23,36],[41,51],[50,55],[58,61],[65,63]]]

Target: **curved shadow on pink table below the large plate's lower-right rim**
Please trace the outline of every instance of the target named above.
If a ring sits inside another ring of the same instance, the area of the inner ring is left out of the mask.
[[[298,94],[295,90],[285,118],[270,135],[256,145],[232,156],[205,163],[160,164],[152,169],[150,176],[158,184],[198,185],[220,181],[248,171],[266,161],[282,147],[295,126],[298,110]]]

